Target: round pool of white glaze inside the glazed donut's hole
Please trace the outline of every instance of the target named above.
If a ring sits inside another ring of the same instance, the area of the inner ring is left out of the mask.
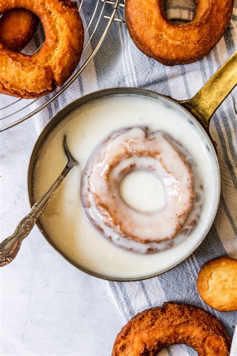
[[[153,212],[165,204],[163,188],[152,172],[135,170],[126,174],[119,184],[121,199],[130,208],[141,212]]]

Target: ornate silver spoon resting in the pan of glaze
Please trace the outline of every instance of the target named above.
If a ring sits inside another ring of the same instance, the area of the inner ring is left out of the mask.
[[[55,193],[57,187],[63,181],[71,168],[77,165],[76,160],[72,157],[68,150],[66,144],[66,136],[63,137],[63,147],[65,156],[67,158],[65,168],[52,183],[50,188],[48,188],[46,193],[32,206],[30,212],[19,222],[14,233],[0,243],[0,267],[5,266],[13,261],[20,249],[21,242],[32,230],[36,220],[44,211],[48,201]]]

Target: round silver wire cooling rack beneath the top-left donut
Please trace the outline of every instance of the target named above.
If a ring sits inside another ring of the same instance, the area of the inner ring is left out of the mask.
[[[72,74],[72,76],[66,81],[63,87],[58,88],[53,93],[51,93],[49,95],[49,99],[43,104],[40,103],[39,98],[17,99],[0,94],[0,132],[7,130],[10,127],[13,127],[23,122],[24,120],[32,117],[40,110],[45,108],[48,104],[50,104],[61,93],[63,93],[66,88],[71,85],[71,83],[80,75],[80,73],[84,70],[84,68],[87,66],[87,64],[98,51],[109,30],[112,21],[115,20],[119,22],[124,22],[121,19],[115,18],[115,13],[118,7],[124,7],[123,0],[121,0],[120,2],[119,0],[81,0],[79,5],[80,13],[86,13],[86,15],[88,13],[91,14],[89,16],[89,19],[88,16],[86,18],[87,26],[85,26],[84,24],[85,41],[83,53],[86,53],[86,56],[83,56],[82,54],[83,60],[80,61],[79,67],[77,67],[74,74]],[[43,36],[44,34],[42,31],[42,27],[39,26],[34,36],[34,39],[31,41],[35,45],[34,51],[31,53],[27,53],[27,47],[30,46],[29,44],[23,52],[26,54],[34,54],[39,51],[39,49],[43,45]],[[97,40],[95,41],[95,39]]]

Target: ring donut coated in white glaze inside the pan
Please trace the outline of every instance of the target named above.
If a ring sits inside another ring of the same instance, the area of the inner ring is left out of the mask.
[[[163,205],[143,212],[119,194],[122,178],[134,171],[152,172],[160,181]],[[134,127],[114,132],[87,158],[80,179],[86,217],[110,240],[142,244],[172,239],[193,205],[193,174],[182,154],[161,132]]]

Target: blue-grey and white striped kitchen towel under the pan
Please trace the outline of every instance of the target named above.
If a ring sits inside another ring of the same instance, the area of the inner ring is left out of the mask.
[[[93,0],[87,0],[83,5],[84,23],[88,23],[94,3]],[[167,0],[166,16],[190,21],[194,8],[195,2],[192,0]],[[123,10],[119,9],[117,16],[123,18]],[[70,101],[97,89],[134,86],[157,91],[174,99],[192,97],[235,51],[236,24],[237,11],[234,10],[228,29],[211,53],[189,65],[165,67],[139,52],[129,38],[126,26],[114,22],[94,60],[59,98],[33,118],[36,131],[39,133],[45,123]],[[43,102],[49,97],[40,100]],[[166,300],[175,300],[209,311],[224,324],[229,335],[233,335],[236,313],[218,312],[208,307],[200,299],[195,282],[200,267],[207,260],[226,254],[237,258],[236,105],[236,91],[232,91],[210,123],[210,132],[218,147],[222,186],[218,213],[203,243],[186,261],[158,277],[130,283],[105,281],[124,322],[138,311],[161,305]],[[187,346],[173,345],[162,350],[161,354],[185,356],[196,353]]]

